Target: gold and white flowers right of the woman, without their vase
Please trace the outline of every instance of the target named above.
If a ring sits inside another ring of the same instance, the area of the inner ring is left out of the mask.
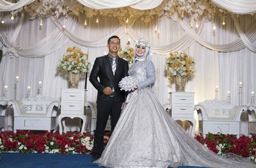
[[[186,77],[194,74],[195,62],[185,52],[170,52],[170,56],[166,60],[167,71],[171,79],[176,75]]]

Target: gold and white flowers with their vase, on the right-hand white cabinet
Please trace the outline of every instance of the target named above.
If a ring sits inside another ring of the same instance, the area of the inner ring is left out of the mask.
[[[170,52],[166,59],[167,72],[172,80],[175,77],[176,91],[185,91],[186,78],[194,75],[195,62],[185,52]]]

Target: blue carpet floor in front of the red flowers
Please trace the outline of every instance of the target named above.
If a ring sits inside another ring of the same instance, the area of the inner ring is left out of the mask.
[[[1,168],[71,168],[99,167],[92,163],[92,155],[63,155],[45,153],[3,153],[0,160]],[[183,166],[182,168],[191,166]],[[201,167],[202,168],[202,167]]]

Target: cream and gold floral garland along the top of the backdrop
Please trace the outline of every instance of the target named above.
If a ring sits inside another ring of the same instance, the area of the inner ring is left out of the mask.
[[[35,19],[36,17],[46,18],[50,16],[58,18],[61,15],[64,17],[70,15],[85,15],[87,19],[107,16],[117,18],[121,24],[124,24],[127,19],[139,18],[147,24],[154,16],[161,19],[163,15],[171,17],[173,21],[177,21],[178,17],[183,19],[187,16],[191,20],[191,24],[194,24],[202,20],[203,17],[205,20],[212,20],[216,12],[218,12],[218,15],[221,17],[230,13],[208,0],[164,0],[163,3],[152,10],[136,10],[129,7],[95,10],[83,6],[77,1],[38,0],[28,6],[24,6],[24,8],[12,11],[12,15],[17,15],[17,13],[22,10],[25,10],[29,14],[30,19]]]

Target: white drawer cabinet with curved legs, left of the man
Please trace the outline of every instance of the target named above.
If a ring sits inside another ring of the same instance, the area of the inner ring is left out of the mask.
[[[84,89],[62,89],[61,91],[61,114],[58,117],[58,123],[60,125],[60,134],[62,134],[61,119],[63,118],[81,118],[83,119],[83,126],[81,132],[84,132],[84,128],[87,123],[87,117],[84,115],[84,102],[85,94]],[[67,133],[65,121],[62,122],[64,132]]]

